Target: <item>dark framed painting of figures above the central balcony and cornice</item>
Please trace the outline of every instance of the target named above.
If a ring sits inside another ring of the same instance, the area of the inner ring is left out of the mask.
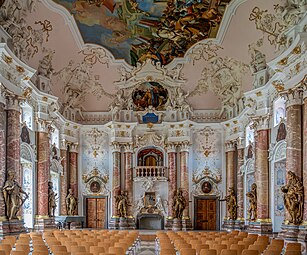
[[[165,109],[168,91],[158,82],[144,82],[132,92],[135,110],[143,111],[152,106],[158,111]]]

